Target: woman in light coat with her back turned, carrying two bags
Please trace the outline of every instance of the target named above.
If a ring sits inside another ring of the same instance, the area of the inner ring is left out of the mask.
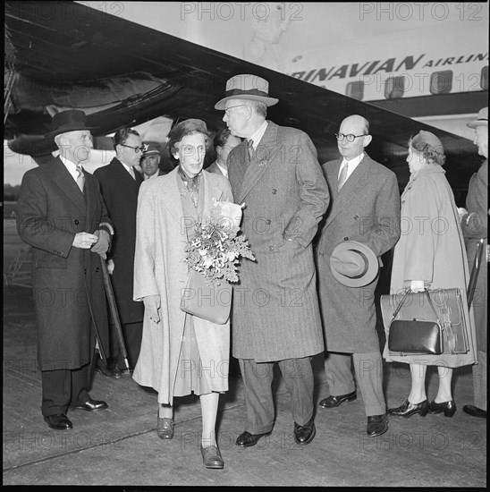
[[[401,355],[384,347],[386,361],[410,364],[410,394],[401,406],[388,413],[411,417],[440,413],[452,417],[452,371],[476,361],[475,327],[469,316],[466,287],[469,268],[460,231],[458,212],[449,182],[444,176],[445,156],[441,140],[429,131],[419,131],[409,142],[410,181],[401,195],[401,237],[393,254],[391,293],[460,288],[463,309],[469,319],[469,351],[441,355]],[[426,394],[427,366],[437,366],[439,387],[429,403]]]

